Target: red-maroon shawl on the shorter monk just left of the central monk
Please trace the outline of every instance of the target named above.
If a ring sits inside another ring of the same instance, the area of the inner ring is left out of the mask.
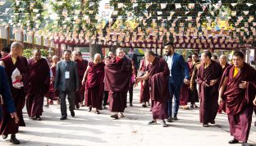
[[[85,89],[94,88],[100,84],[103,84],[104,80],[104,66],[103,62],[94,65],[94,62],[89,62],[89,69],[87,73],[87,80],[85,83]]]

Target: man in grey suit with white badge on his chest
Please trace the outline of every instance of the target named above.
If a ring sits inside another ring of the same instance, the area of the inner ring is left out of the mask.
[[[61,120],[66,120],[66,95],[70,104],[71,116],[75,116],[75,91],[79,90],[79,76],[76,62],[71,61],[71,50],[64,50],[64,60],[57,62],[54,89],[61,99]]]

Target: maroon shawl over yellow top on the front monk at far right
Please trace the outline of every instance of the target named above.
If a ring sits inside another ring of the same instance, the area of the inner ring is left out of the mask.
[[[227,77],[226,90],[223,94],[223,98],[228,115],[237,114],[241,112],[246,105],[252,105],[256,94],[256,71],[254,68],[244,63],[244,67],[235,75],[235,78],[233,78],[234,69],[234,65],[228,66],[221,80],[222,84],[224,78]],[[246,89],[239,88],[239,84],[242,80],[249,82]]]

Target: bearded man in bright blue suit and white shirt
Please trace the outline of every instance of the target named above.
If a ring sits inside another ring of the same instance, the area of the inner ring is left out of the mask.
[[[167,102],[168,122],[177,120],[177,114],[180,106],[181,85],[189,84],[190,71],[181,54],[174,52],[173,43],[165,44],[166,55],[164,57],[170,70],[169,92],[170,100]],[[185,75],[185,76],[184,76]],[[174,95],[174,106],[172,107],[172,97]]]

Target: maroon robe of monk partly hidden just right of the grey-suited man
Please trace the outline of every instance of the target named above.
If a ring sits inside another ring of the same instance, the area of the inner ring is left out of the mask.
[[[75,91],[75,105],[79,105],[79,103],[83,102],[85,99],[85,86],[82,85],[82,80],[85,75],[85,71],[88,66],[88,62],[86,60],[80,61],[75,60],[77,63],[77,70],[78,70],[78,76],[79,76],[79,91]]]

